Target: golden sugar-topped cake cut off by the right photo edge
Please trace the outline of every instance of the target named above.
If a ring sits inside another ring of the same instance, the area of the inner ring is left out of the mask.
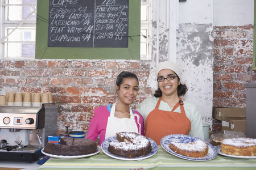
[[[236,156],[256,156],[256,139],[230,138],[221,141],[221,152]]]

